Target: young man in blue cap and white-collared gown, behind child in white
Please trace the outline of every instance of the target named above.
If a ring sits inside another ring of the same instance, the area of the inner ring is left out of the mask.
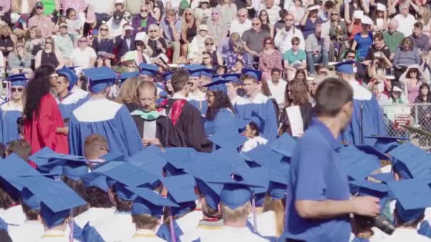
[[[274,110],[274,105],[272,100],[267,96],[264,96],[261,91],[262,71],[257,71],[255,69],[242,69],[242,88],[245,91],[245,97],[249,100],[249,106],[251,113],[245,113],[245,117],[240,117],[242,119],[250,119],[252,116],[261,117],[264,127],[262,127],[262,137],[273,141],[276,139],[278,121],[276,117],[276,112]],[[237,105],[237,107],[240,105]],[[253,113],[255,113],[253,115]]]

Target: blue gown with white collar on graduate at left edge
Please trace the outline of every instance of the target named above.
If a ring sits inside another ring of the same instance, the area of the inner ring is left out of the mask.
[[[0,143],[3,144],[19,139],[16,120],[23,114],[23,110],[12,108],[9,104],[8,102],[0,105]]]

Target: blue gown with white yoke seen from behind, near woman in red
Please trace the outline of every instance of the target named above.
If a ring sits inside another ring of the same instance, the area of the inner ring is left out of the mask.
[[[91,134],[106,137],[111,151],[125,157],[143,149],[128,109],[106,98],[88,100],[73,111],[69,120],[70,154],[83,155],[85,138]]]

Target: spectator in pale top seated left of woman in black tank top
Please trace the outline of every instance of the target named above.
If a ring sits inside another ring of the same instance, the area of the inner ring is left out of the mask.
[[[8,73],[33,73],[31,69],[31,54],[26,52],[23,40],[17,40],[13,51],[8,56]]]

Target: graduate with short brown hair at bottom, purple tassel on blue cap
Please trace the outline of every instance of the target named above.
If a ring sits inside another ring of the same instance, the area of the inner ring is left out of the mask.
[[[132,219],[136,232],[127,242],[162,242],[155,231],[162,221],[163,207],[178,207],[177,204],[158,195],[149,188],[130,188],[138,197],[132,204]]]

